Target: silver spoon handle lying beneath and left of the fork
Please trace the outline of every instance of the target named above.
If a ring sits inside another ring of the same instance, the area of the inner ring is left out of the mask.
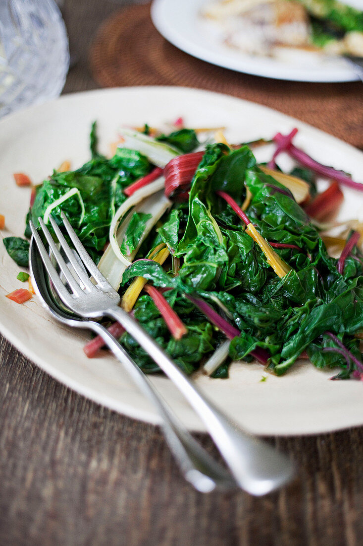
[[[215,461],[191,436],[171,409],[162,400],[148,377],[138,367],[125,349],[98,322],[87,321],[85,325],[100,335],[114,356],[124,365],[138,388],[148,397],[162,419],[161,427],[165,440],[185,479],[203,493],[214,489],[230,490],[237,487],[231,474]]]

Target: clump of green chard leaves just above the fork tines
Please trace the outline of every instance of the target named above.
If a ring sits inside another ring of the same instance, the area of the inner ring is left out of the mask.
[[[52,208],[51,213],[56,222],[62,225],[63,210],[82,244],[97,263],[108,242],[108,230],[114,212],[126,199],[123,188],[146,175],[151,165],[146,157],[135,150],[118,149],[111,159],[99,155],[95,148],[95,126],[92,131],[92,159],[75,171],[54,171],[50,179],[38,186],[29,219],[37,226],[39,216],[44,217],[46,210],[57,199],[76,188],[80,197],[78,194],[71,195],[60,206]]]

